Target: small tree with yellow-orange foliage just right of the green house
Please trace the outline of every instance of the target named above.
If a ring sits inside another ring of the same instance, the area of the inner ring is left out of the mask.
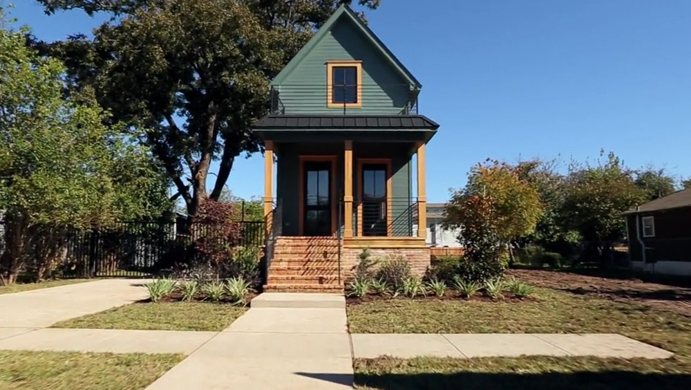
[[[473,167],[466,187],[451,194],[444,225],[462,229],[466,257],[499,261],[501,248],[532,234],[541,215],[540,194],[520,177],[520,169],[488,160]]]

